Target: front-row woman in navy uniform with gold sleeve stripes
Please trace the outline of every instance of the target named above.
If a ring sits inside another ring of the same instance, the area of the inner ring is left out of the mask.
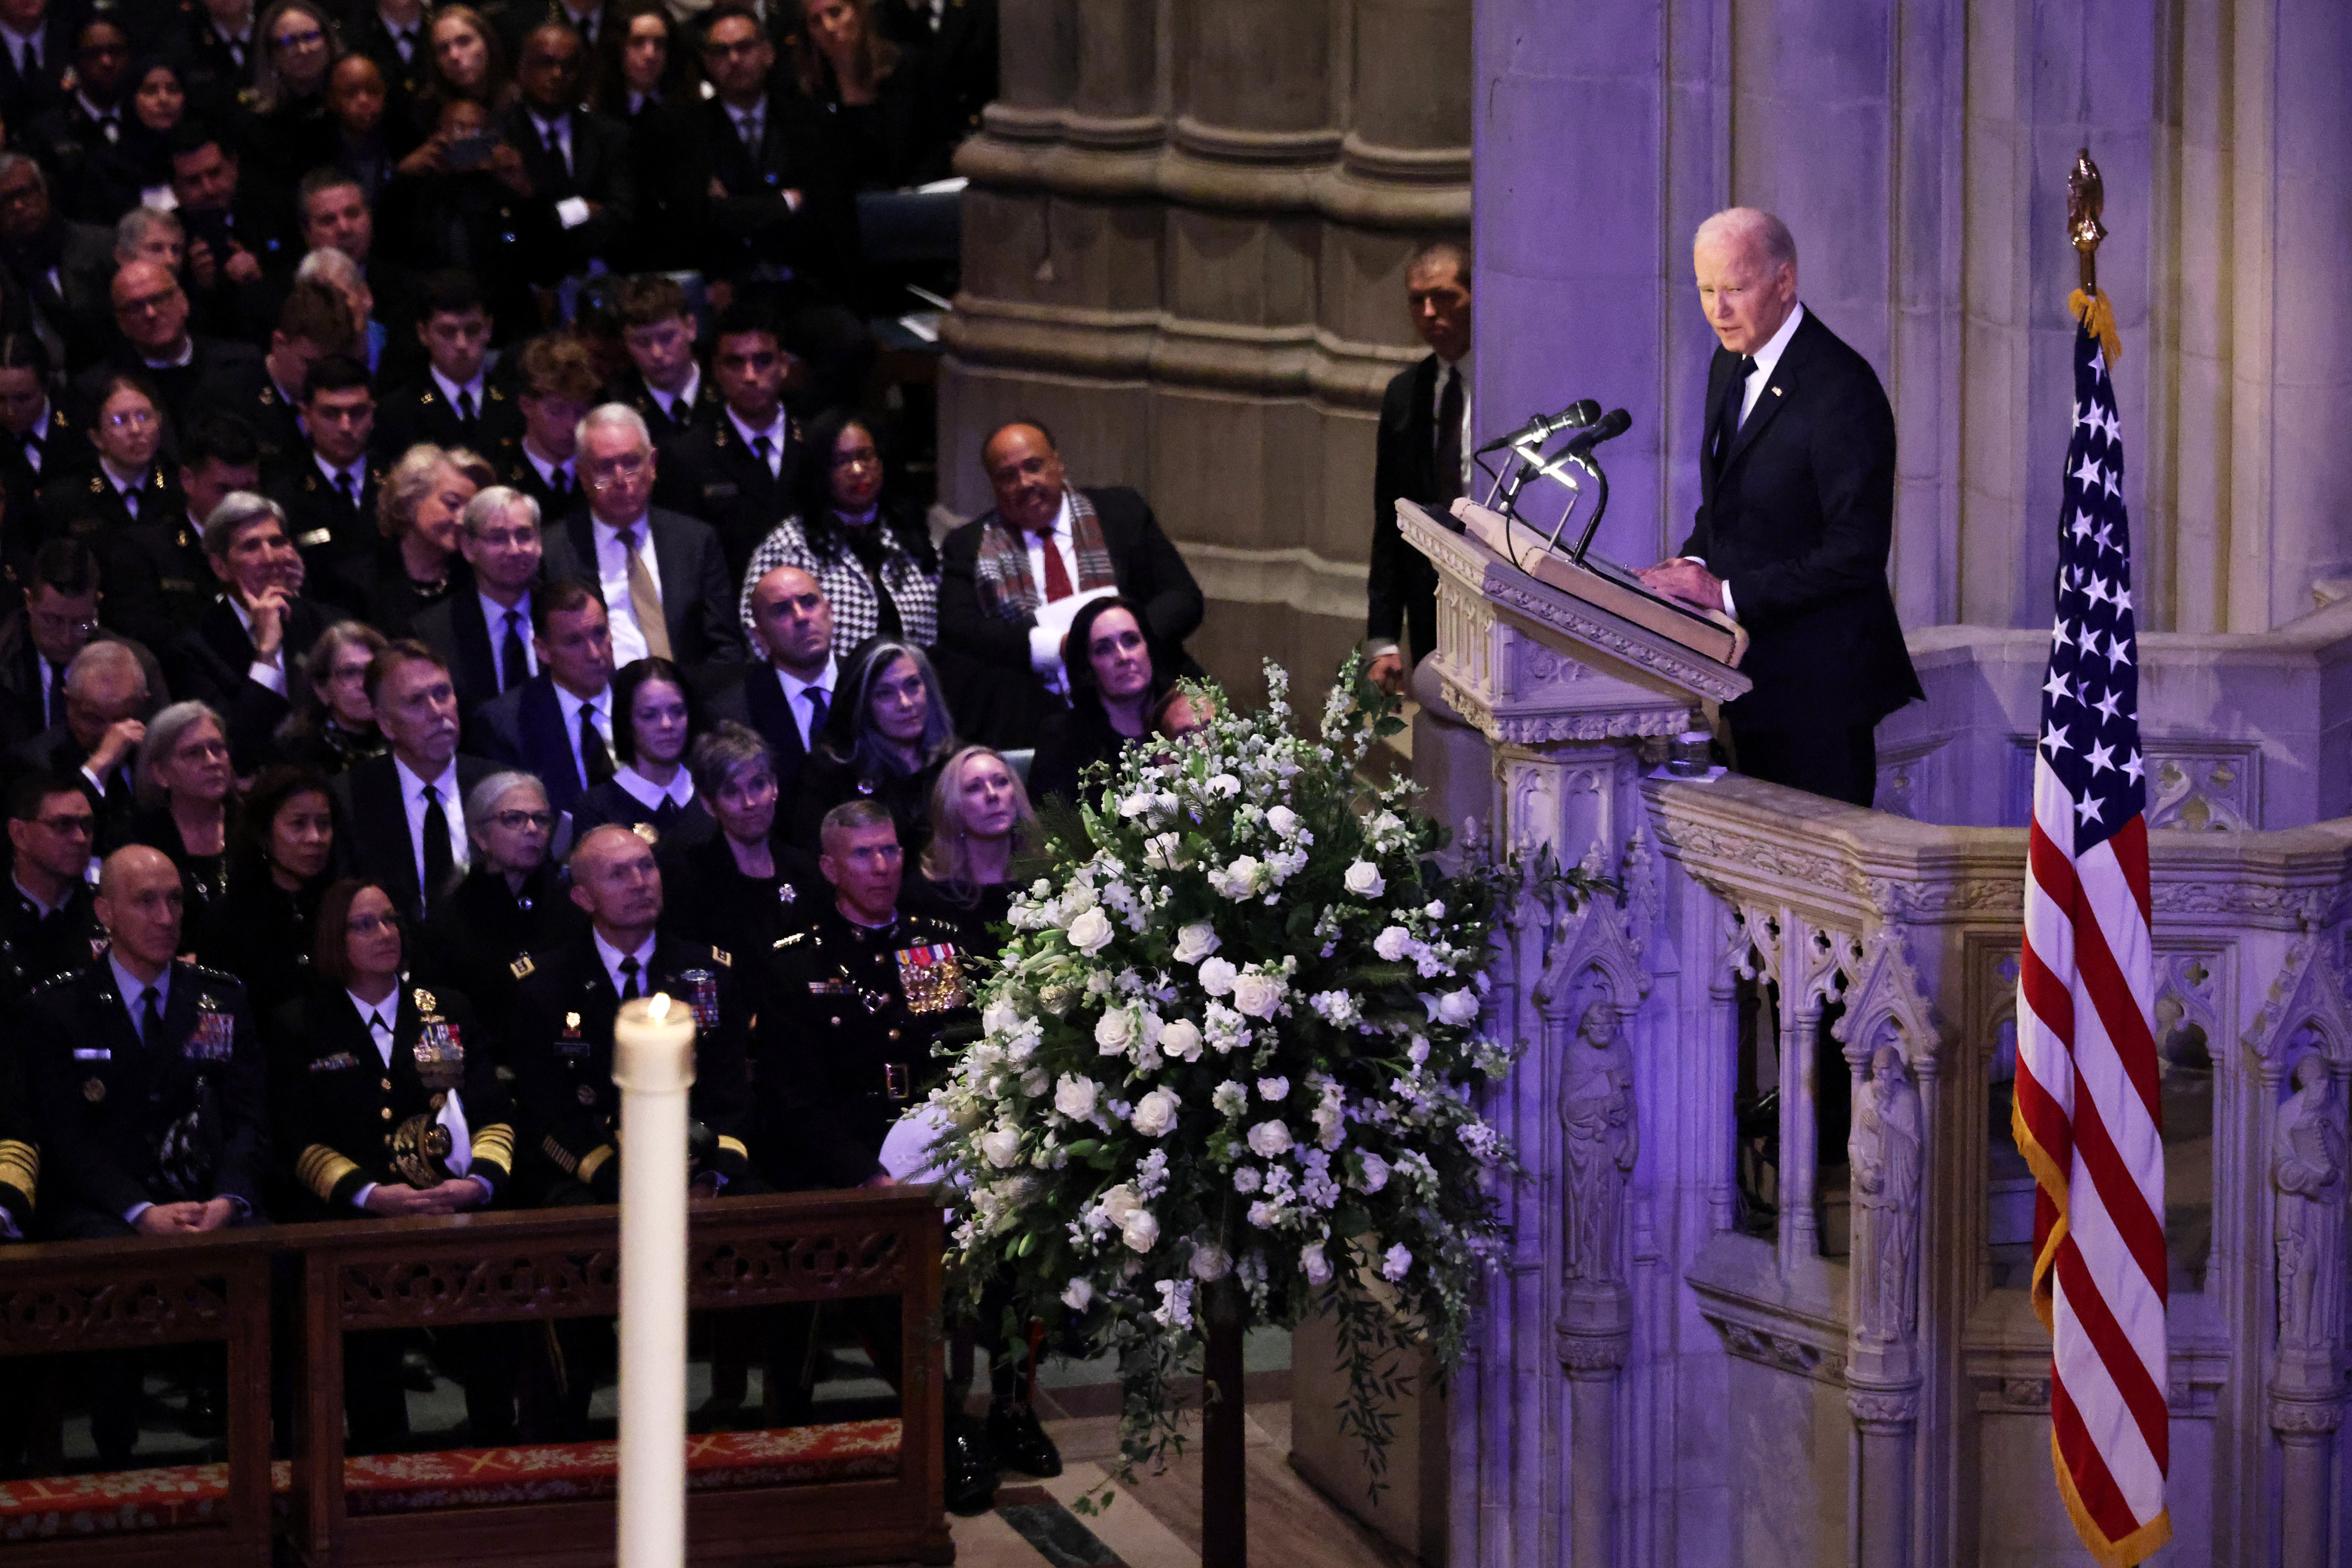
[[[487,1208],[515,1164],[513,1105],[468,999],[416,985],[407,933],[374,882],[343,879],[320,898],[313,983],[278,1009],[280,1157],[306,1220],[430,1218]],[[513,1441],[515,1338],[442,1331],[459,1361],[470,1441]],[[409,1432],[400,1380],[405,1335],[343,1340],[350,1450],[381,1453]]]

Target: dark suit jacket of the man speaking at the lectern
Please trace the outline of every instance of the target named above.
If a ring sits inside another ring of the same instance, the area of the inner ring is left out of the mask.
[[[1738,357],[1717,348],[1708,411]],[[1877,724],[1924,696],[1903,646],[1886,552],[1896,524],[1896,421],[1863,355],[1804,322],[1719,463],[1700,454],[1700,505],[1682,555],[1731,583],[1755,689],[1724,703],[1750,733]]]

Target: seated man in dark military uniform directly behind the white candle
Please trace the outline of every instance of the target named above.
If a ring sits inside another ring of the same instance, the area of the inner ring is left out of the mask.
[[[522,1199],[539,1206],[621,1199],[621,1091],[612,1081],[612,1023],[633,997],[666,992],[694,1009],[694,1197],[757,1192],[746,1001],[734,954],[656,933],[661,870],[628,827],[590,830],[572,851],[572,900],[590,929],[562,947],[515,959],[508,1063],[520,1100]]]

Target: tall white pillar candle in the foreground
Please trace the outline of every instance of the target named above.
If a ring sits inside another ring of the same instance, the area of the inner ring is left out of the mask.
[[[623,1001],[621,1088],[621,1568],[687,1556],[687,1091],[694,1009]]]

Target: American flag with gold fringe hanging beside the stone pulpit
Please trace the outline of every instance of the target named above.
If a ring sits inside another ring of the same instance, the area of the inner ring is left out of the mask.
[[[2032,1291],[2053,1340],[2058,1490],[2107,1568],[2171,1540],[2147,766],[2122,487],[2107,355],[2077,327],[2011,1124],[2039,1185]]]

